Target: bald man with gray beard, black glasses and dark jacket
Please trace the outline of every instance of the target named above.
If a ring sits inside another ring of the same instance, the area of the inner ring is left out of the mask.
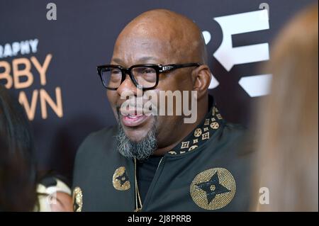
[[[248,210],[245,130],[226,123],[208,95],[206,45],[193,21],[167,10],[142,13],[98,73],[118,126],[79,147],[75,211]],[[159,101],[169,91],[182,101],[175,98],[172,114],[159,114],[170,108]],[[191,123],[177,111],[185,106],[196,116]]]

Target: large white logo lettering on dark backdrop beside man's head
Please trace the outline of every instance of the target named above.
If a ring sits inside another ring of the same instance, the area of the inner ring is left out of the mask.
[[[213,56],[228,72],[237,64],[269,60],[268,43],[233,47],[232,40],[232,35],[269,29],[269,7],[265,8],[266,9],[259,11],[237,13],[214,18],[222,28],[223,41]],[[207,45],[211,41],[211,33],[204,30],[203,37]],[[271,74],[247,75],[242,77],[238,83],[248,95],[256,97],[264,96],[269,93],[271,79]],[[216,88],[218,84],[217,79],[212,74],[212,81],[209,89]]]

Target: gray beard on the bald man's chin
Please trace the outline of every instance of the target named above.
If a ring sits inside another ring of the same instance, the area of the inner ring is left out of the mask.
[[[135,142],[130,140],[125,135],[123,125],[118,123],[118,134],[116,135],[117,149],[124,157],[136,158],[138,160],[147,159],[157,149],[157,129],[156,129],[156,117],[155,123],[152,129],[142,140]]]

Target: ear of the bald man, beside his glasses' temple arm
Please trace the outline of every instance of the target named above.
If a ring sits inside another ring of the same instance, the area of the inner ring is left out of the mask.
[[[193,90],[197,91],[197,98],[206,95],[209,84],[211,84],[211,70],[206,64],[196,67],[192,72]]]

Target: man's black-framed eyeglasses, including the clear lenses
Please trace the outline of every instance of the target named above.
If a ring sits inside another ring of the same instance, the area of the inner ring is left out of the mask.
[[[136,64],[130,68],[121,65],[106,64],[97,67],[103,86],[106,89],[116,90],[130,76],[135,86],[142,86],[142,90],[154,89],[159,81],[159,73],[169,72],[184,67],[199,67],[199,63],[189,64]]]

